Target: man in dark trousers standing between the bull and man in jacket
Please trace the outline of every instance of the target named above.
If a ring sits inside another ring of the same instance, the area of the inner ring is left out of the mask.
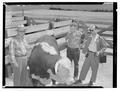
[[[77,80],[78,77],[79,69],[78,62],[80,56],[81,35],[82,32],[79,29],[79,22],[76,20],[72,20],[72,24],[70,25],[70,31],[66,36],[66,41],[67,41],[67,57],[74,62],[75,80]]]

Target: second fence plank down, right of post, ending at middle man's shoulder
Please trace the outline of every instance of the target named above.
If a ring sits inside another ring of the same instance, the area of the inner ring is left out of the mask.
[[[65,33],[67,33],[69,30],[70,30],[70,26],[65,26],[65,27],[61,27],[61,28],[54,29],[54,31],[55,31],[54,36],[59,36],[59,35],[61,35],[61,34],[65,34]]]

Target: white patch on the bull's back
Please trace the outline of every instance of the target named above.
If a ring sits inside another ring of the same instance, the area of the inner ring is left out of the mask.
[[[42,46],[43,51],[51,54],[51,55],[57,55],[57,51],[55,50],[55,48],[53,46],[50,46],[47,42],[42,42],[40,43],[40,45]]]

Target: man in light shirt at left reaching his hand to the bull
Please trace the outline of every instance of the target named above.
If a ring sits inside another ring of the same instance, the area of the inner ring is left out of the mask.
[[[28,45],[24,35],[26,28],[18,27],[17,35],[14,36],[9,45],[10,58],[13,67],[14,74],[14,86],[25,86],[26,85],[26,75],[27,75],[27,49],[32,49],[38,44]]]

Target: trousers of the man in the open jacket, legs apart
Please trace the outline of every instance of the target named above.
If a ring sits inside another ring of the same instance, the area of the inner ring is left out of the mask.
[[[86,75],[89,69],[91,68],[92,75],[90,81],[95,82],[97,77],[98,67],[99,67],[99,57],[96,56],[95,53],[89,52],[85,62],[83,63],[79,79],[85,80]]]

